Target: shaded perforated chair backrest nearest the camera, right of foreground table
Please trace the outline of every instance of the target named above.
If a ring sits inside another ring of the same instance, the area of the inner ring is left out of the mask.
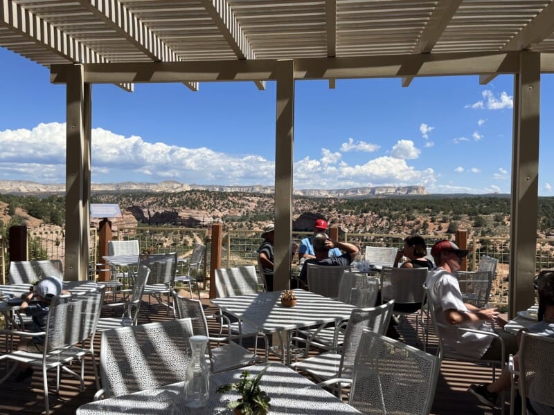
[[[349,403],[364,414],[429,414],[439,369],[436,356],[365,329]]]

